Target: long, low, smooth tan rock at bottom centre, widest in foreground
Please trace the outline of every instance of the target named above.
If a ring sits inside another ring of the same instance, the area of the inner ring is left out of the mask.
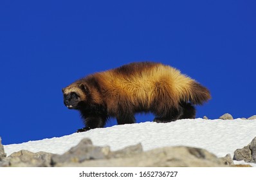
[[[227,167],[214,154],[193,147],[165,147],[134,156],[62,163],[58,167]]]

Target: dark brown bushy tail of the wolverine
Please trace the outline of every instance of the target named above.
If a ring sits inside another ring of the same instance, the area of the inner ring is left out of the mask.
[[[206,87],[195,81],[190,83],[190,102],[192,104],[203,105],[210,98],[210,91]]]

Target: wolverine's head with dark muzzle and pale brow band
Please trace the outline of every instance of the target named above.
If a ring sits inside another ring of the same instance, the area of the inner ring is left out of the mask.
[[[87,88],[84,84],[71,84],[62,89],[64,105],[68,109],[79,109],[82,102],[86,101]]]

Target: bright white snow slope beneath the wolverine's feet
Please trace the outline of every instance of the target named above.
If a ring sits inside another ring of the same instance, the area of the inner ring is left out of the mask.
[[[248,145],[256,136],[256,120],[178,120],[170,123],[134,123],[115,125],[87,132],[74,133],[60,138],[28,141],[4,145],[8,155],[19,150],[63,154],[83,138],[90,138],[93,145],[109,146],[119,150],[142,143],[144,150],[158,147],[189,146],[208,150],[218,157],[231,154]],[[237,162],[235,162],[237,163]],[[239,161],[239,163],[244,163]],[[253,167],[256,164],[251,163]]]

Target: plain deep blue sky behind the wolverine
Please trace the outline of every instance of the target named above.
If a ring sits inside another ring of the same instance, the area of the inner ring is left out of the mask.
[[[197,107],[197,117],[256,114],[255,9],[252,0],[0,1],[3,144],[82,128],[78,111],[63,104],[62,87],[145,60],[176,67],[210,89],[212,100]]]

